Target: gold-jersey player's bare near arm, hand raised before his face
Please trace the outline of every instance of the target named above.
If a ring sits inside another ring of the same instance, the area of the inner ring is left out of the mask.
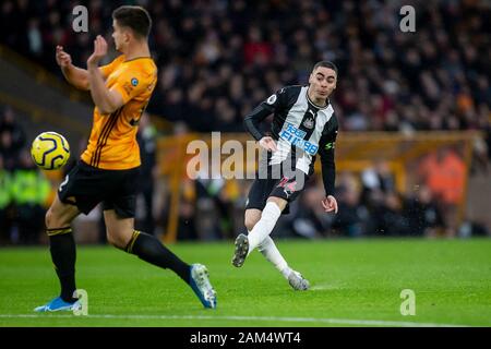
[[[124,101],[120,93],[109,91],[98,68],[99,61],[107,53],[107,43],[100,36],[94,40],[94,52],[87,60],[88,84],[94,104],[101,113],[111,113],[123,106]]]

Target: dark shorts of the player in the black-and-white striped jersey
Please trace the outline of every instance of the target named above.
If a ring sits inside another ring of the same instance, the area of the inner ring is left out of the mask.
[[[278,169],[278,176],[272,176],[274,166],[268,168],[267,178],[256,178],[252,183],[251,190],[249,191],[248,202],[246,204],[246,209],[256,208],[260,210],[264,209],[266,206],[267,198],[270,196],[282,197],[288,202],[287,206],[282,214],[289,214],[289,203],[294,202],[298,195],[306,188],[306,182],[309,177],[300,170],[296,170],[289,176],[284,176],[284,173]]]

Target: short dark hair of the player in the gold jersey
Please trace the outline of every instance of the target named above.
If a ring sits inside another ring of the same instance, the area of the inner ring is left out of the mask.
[[[148,37],[152,19],[142,7],[119,7],[112,11],[112,19],[118,21],[118,25],[131,28],[136,36]]]

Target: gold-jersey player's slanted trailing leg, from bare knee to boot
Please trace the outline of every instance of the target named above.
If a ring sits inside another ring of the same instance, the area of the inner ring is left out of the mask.
[[[134,230],[133,218],[118,217],[113,209],[104,212],[109,243],[141,260],[161,268],[169,268],[191,286],[206,308],[216,306],[216,293],[208,280],[206,267],[201,264],[189,265],[168,250],[157,238]]]

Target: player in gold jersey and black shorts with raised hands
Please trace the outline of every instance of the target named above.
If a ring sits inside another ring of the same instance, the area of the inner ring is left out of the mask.
[[[51,258],[61,293],[35,311],[74,310],[81,306],[75,291],[75,242],[70,224],[103,203],[108,241],[143,261],[179,275],[205,308],[216,308],[216,293],[204,265],[189,265],[155,237],[134,229],[135,188],[140,168],[136,142],[139,120],[157,83],[157,68],[148,49],[152,20],[141,7],[124,5],[112,12],[112,38],[120,51],[111,63],[98,67],[107,55],[99,35],[87,69],[76,68],[61,46],[56,59],[69,83],[89,91],[94,121],[86,151],[60,184],[46,214]]]

